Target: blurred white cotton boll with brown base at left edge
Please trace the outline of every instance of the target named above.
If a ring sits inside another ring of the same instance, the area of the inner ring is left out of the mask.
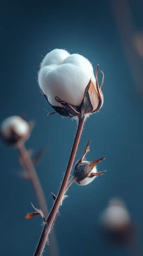
[[[26,140],[30,135],[29,124],[19,116],[11,116],[5,119],[0,127],[2,139],[9,144]]]

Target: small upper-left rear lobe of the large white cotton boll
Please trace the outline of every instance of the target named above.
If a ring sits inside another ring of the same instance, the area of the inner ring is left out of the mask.
[[[61,65],[64,59],[69,55],[70,54],[64,49],[54,49],[46,54],[42,61],[41,68],[51,64]]]

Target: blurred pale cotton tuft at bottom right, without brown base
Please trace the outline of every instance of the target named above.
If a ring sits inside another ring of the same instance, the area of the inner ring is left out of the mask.
[[[131,218],[125,204],[121,200],[113,199],[103,211],[101,222],[106,230],[120,233],[130,226]]]

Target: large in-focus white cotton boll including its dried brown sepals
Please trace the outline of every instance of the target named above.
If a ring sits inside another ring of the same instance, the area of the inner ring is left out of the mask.
[[[93,67],[80,54],[69,54],[64,49],[49,52],[41,63],[38,81],[44,96],[60,115],[72,117],[96,112],[103,104]]]

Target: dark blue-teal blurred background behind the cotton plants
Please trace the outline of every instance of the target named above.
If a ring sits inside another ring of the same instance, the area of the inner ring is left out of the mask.
[[[121,3],[1,1],[0,121],[11,115],[35,121],[26,147],[33,153],[47,148],[37,173],[49,208],[50,192],[57,193],[68,162],[76,122],[47,117],[45,110],[53,110],[37,84],[42,57],[66,48],[87,57],[95,68],[99,63],[105,74],[103,108],[86,121],[76,160],[91,139],[88,159],[107,155],[98,170],[108,172],[88,186],[73,184],[69,189],[54,228],[60,256],[128,256],[125,248],[105,243],[99,232],[100,214],[114,196],[126,203],[143,240],[143,58],[134,43],[143,30],[143,2]],[[32,211],[30,202],[38,207],[37,201],[31,184],[20,178],[17,151],[2,143],[0,172],[0,255],[32,256],[42,220],[24,216]]]

